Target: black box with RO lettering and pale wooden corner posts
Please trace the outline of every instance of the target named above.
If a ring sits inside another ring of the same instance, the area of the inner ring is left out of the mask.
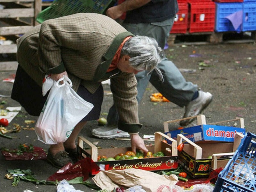
[[[186,138],[182,134],[178,134],[177,136],[177,144],[181,144],[183,141],[186,142],[184,144],[183,150],[178,152],[178,161],[179,164],[184,168],[184,170],[188,173],[188,175],[192,178],[199,177],[208,177],[212,166],[214,165],[214,161],[218,160],[213,157],[213,154],[227,155],[226,153],[232,153],[236,151],[238,145],[241,142],[241,134],[236,134],[235,142],[227,142],[227,143],[200,143],[195,144],[188,138]],[[184,143],[183,142],[183,143]],[[229,154],[230,155],[230,154]],[[211,157],[211,158],[209,158]],[[227,164],[227,160],[232,158],[225,158],[225,163]],[[222,160],[222,159],[219,159]],[[218,162],[220,163],[220,162]],[[222,165],[223,166],[223,162]],[[220,166],[220,164],[219,164]],[[217,166],[215,168],[218,168]]]

